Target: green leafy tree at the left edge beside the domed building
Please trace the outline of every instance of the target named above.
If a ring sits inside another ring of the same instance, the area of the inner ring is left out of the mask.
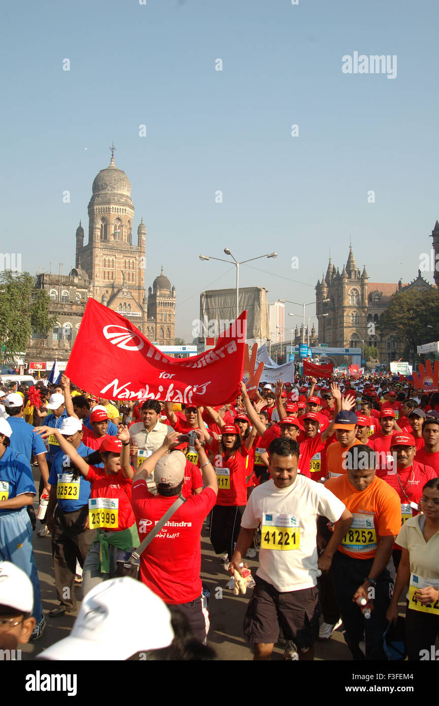
[[[1,363],[25,351],[32,326],[38,333],[46,335],[54,325],[54,318],[49,317],[47,292],[35,292],[34,285],[34,277],[28,272],[4,270],[0,273]]]

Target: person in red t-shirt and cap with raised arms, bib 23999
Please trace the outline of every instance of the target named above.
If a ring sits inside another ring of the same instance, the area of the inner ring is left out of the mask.
[[[42,426],[42,438],[54,434],[61,450],[70,457],[85,480],[91,484],[88,517],[84,530],[97,529],[83,568],[83,596],[102,581],[116,575],[116,560],[120,551],[129,551],[140,544],[136,517],[131,507],[131,483],[134,469],[130,464],[130,433],[128,426],[119,426],[117,438],[107,436],[100,445],[103,468],[90,466],[59,429]]]

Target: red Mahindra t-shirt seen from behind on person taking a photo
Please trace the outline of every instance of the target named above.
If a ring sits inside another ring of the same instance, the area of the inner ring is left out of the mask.
[[[212,488],[190,496],[140,556],[141,580],[165,603],[189,603],[201,595],[200,532],[215,499]],[[133,509],[140,540],[175,501],[175,496],[152,495],[144,480],[134,483]]]

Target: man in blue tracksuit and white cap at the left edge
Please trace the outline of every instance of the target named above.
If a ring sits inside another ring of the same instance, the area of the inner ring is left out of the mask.
[[[36,624],[30,639],[37,640],[44,633],[46,619],[32,550],[32,525],[26,510],[36,495],[35,483],[28,459],[11,448],[12,433],[8,421],[0,419],[0,561],[16,564],[32,582],[32,616]]]

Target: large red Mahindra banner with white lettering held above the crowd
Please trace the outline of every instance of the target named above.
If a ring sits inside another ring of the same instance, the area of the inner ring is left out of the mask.
[[[164,400],[224,405],[240,393],[247,312],[212,350],[172,358],[116,311],[88,299],[66,375],[83,390],[109,400]]]

